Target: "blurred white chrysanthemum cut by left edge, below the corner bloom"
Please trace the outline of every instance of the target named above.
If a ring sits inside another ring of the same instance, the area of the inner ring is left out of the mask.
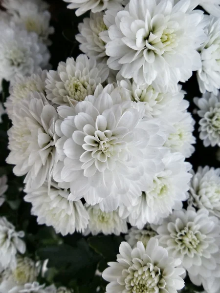
[[[15,76],[31,75],[48,64],[49,51],[36,33],[15,23],[0,26],[0,79],[13,83]]]

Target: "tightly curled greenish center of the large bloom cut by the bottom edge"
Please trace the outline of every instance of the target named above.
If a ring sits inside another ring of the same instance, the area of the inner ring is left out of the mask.
[[[152,263],[141,267],[139,270],[133,270],[134,266],[129,268],[130,274],[125,279],[125,288],[132,293],[158,293],[160,289],[166,286],[162,278],[160,269]]]

